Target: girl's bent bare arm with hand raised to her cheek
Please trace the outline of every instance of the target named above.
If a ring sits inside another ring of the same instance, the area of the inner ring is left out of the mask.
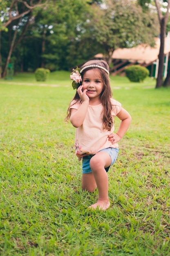
[[[87,113],[87,108],[89,106],[89,97],[86,95],[87,90],[82,91],[82,89],[83,85],[79,86],[77,89],[78,95],[80,96],[82,102],[80,108],[78,108],[78,110],[74,108],[71,109],[70,122],[76,128],[83,124]]]

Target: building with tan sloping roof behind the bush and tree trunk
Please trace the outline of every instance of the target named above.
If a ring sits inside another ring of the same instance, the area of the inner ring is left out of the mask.
[[[160,38],[155,38],[155,47],[138,45],[132,48],[116,49],[112,55],[113,67],[110,69],[110,73],[112,75],[120,74],[123,76],[125,75],[125,67],[129,65],[141,65],[150,70],[151,77],[157,78],[159,48]],[[170,32],[168,32],[165,38],[164,56],[163,76],[166,77],[167,70],[170,66]],[[95,58],[103,58],[103,54],[96,54]]]

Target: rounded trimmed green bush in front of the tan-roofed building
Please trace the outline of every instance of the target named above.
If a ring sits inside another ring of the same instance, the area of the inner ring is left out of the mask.
[[[149,76],[149,70],[146,67],[132,65],[125,68],[125,74],[131,82],[143,82]]]

